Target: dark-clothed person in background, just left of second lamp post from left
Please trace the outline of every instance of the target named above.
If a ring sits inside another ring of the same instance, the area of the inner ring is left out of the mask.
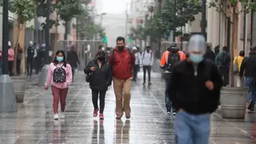
[[[29,47],[27,48],[27,76],[32,77],[32,72],[33,72],[33,62],[34,58],[36,57],[36,49],[34,49],[33,42],[29,42]]]

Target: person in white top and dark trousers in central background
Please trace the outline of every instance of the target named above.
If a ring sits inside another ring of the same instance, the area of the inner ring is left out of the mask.
[[[150,50],[150,46],[146,47],[146,50],[141,54],[141,65],[143,66],[144,69],[144,83],[143,85],[146,84],[146,72],[148,71],[148,76],[149,76],[149,85],[151,85],[151,69],[152,65],[154,63],[154,54]]]

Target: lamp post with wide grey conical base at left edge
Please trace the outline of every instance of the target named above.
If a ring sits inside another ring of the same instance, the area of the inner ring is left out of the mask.
[[[0,112],[16,112],[13,81],[8,75],[8,0],[3,0],[3,75],[0,76]]]

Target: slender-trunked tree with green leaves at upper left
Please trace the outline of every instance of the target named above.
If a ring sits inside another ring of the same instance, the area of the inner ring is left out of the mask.
[[[16,68],[16,57],[17,57],[17,45],[20,36],[21,29],[24,28],[24,23],[32,20],[36,17],[36,4],[31,0],[8,0],[9,5],[8,9],[11,13],[15,13],[17,15],[17,28],[18,33],[16,36],[15,42],[15,60],[14,60],[14,69]],[[1,7],[3,7],[3,1],[0,3]],[[22,26],[21,26],[22,25]],[[15,70],[16,71],[16,70]]]

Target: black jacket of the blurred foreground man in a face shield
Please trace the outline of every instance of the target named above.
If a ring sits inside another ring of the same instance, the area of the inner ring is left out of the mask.
[[[206,81],[212,80],[214,90],[206,88]],[[216,111],[222,79],[217,65],[205,59],[197,65],[197,75],[193,64],[187,60],[175,64],[168,81],[168,93],[176,110],[183,109],[191,114],[205,114]]]

